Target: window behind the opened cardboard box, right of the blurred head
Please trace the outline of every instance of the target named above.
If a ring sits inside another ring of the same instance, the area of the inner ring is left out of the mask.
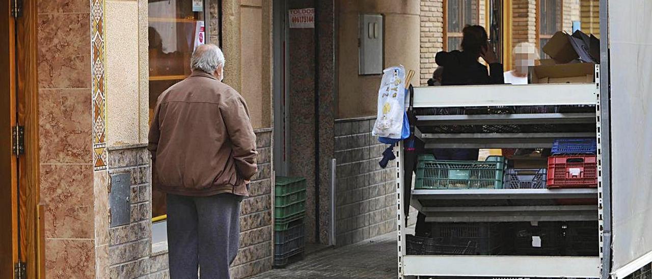
[[[539,53],[541,59],[550,58],[543,52],[543,46],[548,40],[561,30],[561,1],[540,0],[539,1]]]

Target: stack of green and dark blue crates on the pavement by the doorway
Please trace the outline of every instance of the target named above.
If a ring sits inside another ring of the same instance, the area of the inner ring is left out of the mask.
[[[274,184],[274,267],[301,258],[305,247],[306,179],[276,177]]]

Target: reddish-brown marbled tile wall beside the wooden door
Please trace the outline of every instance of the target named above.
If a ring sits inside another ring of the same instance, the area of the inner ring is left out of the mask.
[[[89,1],[38,2],[40,204],[48,278],[95,277]]]

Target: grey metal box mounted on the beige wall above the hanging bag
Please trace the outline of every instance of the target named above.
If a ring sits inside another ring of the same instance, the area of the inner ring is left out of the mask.
[[[358,74],[382,74],[383,16],[360,14],[358,19]]]

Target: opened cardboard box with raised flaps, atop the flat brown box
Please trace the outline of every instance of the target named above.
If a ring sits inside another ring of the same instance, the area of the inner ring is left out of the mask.
[[[557,64],[571,63],[575,59],[585,63],[600,63],[600,40],[579,30],[573,35],[558,31],[543,46],[543,52],[550,55]]]

